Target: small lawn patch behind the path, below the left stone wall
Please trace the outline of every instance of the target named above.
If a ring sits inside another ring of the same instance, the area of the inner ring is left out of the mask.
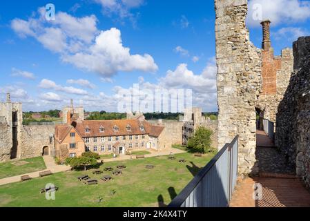
[[[45,163],[42,157],[34,157],[26,160],[28,164],[21,166],[15,166],[12,162],[6,162],[0,164],[0,179],[4,177],[12,177],[14,175],[20,175],[23,173],[31,173],[35,171],[41,171],[46,169]]]

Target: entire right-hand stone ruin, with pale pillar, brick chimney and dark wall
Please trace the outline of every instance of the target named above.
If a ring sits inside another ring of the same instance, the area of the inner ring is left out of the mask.
[[[275,144],[310,186],[310,38],[273,55],[271,21],[262,21],[262,49],[246,28],[247,0],[215,0],[218,147],[239,139],[238,173],[257,175],[256,111],[275,122]]]

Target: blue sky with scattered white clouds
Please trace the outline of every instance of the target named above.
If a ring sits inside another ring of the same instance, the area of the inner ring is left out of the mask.
[[[272,3],[271,3],[272,2]],[[53,3],[55,21],[44,19]],[[275,54],[309,35],[309,1],[252,0],[247,24],[261,46],[255,4],[273,21]],[[61,108],[75,99],[88,111],[117,111],[122,93],[193,90],[193,105],[217,111],[213,1],[1,1],[0,99],[10,92],[24,111]]]

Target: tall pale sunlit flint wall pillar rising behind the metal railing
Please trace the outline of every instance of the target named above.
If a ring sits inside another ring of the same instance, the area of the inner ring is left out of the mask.
[[[218,148],[239,140],[239,175],[258,173],[255,104],[262,89],[261,50],[249,41],[246,0],[215,0]]]

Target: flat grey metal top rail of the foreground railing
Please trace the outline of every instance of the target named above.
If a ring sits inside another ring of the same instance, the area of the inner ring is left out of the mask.
[[[173,201],[168,205],[168,207],[176,208],[182,206],[186,198],[188,198],[188,195],[190,195],[193,192],[195,187],[198,184],[200,184],[200,182],[206,176],[206,174],[209,173],[209,171],[213,168],[213,166],[215,166],[217,160],[220,159],[220,157],[225,153],[227,149],[230,150],[231,148],[233,148],[233,144],[235,144],[235,142],[237,142],[238,139],[239,135],[237,135],[233,139],[231,144],[225,144],[224,147],[215,155],[215,157],[213,157],[213,159],[208,164],[206,164],[204,169],[202,169],[197,175],[195,175],[193,180],[191,180],[191,182],[187,184],[187,186],[181,191],[181,193],[173,199]]]

